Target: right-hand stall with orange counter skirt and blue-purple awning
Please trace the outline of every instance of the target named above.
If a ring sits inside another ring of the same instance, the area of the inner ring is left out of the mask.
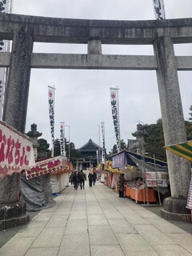
[[[160,202],[157,195],[169,193],[166,162],[123,150],[112,156],[112,168],[125,174],[125,195],[136,202]]]

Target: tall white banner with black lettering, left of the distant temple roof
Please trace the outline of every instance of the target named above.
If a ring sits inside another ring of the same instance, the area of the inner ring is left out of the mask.
[[[52,142],[51,157],[54,157],[54,87],[48,86],[49,114],[50,114],[50,136]]]

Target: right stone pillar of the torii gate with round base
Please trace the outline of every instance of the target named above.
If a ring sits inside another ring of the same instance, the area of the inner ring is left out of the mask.
[[[173,39],[160,36],[154,42],[158,61],[158,91],[166,146],[186,142],[186,127],[178,84],[177,62]],[[166,150],[171,197],[163,202],[162,217],[190,222],[186,198],[190,186],[190,162]]]

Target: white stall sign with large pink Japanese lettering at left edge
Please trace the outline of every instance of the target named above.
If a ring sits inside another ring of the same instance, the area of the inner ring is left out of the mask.
[[[35,166],[33,142],[0,122],[0,178]]]

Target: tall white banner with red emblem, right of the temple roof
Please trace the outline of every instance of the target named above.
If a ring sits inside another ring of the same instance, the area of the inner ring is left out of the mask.
[[[121,150],[119,110],[118,110],[118,88],[110,88],[110,104],[114,122],[114,134],[117,142],[118,152]]]

